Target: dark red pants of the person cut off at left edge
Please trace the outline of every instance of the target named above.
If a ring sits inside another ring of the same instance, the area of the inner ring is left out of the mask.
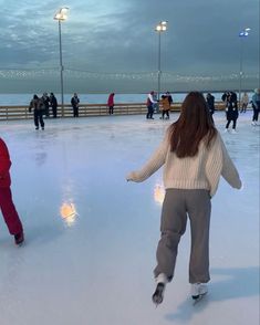
[[[22,223],[12,201],[12,192],[10,187],[0,188],[0,208],[3,219],[7,223],[9,232],[17,234],[22,231]]]

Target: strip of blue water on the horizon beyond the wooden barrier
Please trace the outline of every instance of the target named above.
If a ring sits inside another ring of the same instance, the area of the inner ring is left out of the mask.
[[[222,93],[211,93],[217,102],[221,101]],[[0,94],[0,106],[29,105],[33,94]],[[38,94],[40,95],[40,94]],[[174,102],[184,101],[187,93],[171,94]],[[206,94],[205,94],[206,95]],[[251,98],[252,93],[248,93]],[[61,95],[55,94],[58,102],[61,103]],[[72,94],[64,95],[64,103],[71,103]],[[106,104],[108,94],[79,94],[82,104]],[[147,94],[115,94],[115,103],[146,103]]]

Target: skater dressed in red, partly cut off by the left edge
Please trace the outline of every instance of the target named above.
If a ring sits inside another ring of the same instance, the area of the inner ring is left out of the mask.
[[[11,164],[8,147],[0,138],[0,208],[10,234],[14,237],[15,244],[20,245],[24,241],[24,235],[21,220],[12,201],[9,172]]]

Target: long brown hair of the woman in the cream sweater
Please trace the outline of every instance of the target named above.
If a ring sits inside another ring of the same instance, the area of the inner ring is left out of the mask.
[[[194,157],[201,139],[205,138],[206,146],[209,147],[216,135],[217,129],[204,95],[190,92],[184,99],[178,120],[169,128],[170,150],[179,158]]]

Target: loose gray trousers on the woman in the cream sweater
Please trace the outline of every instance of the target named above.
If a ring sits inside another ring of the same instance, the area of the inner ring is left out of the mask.
[[[180,237],[185,233],[187,217],[190,221],[191,251],[189,283],[206,283],[209,277],[209,223],[211,202],[208,190],[167,189],[160,220],[162,237],[158,243],[155,277],[166,274],[170,281]]]

